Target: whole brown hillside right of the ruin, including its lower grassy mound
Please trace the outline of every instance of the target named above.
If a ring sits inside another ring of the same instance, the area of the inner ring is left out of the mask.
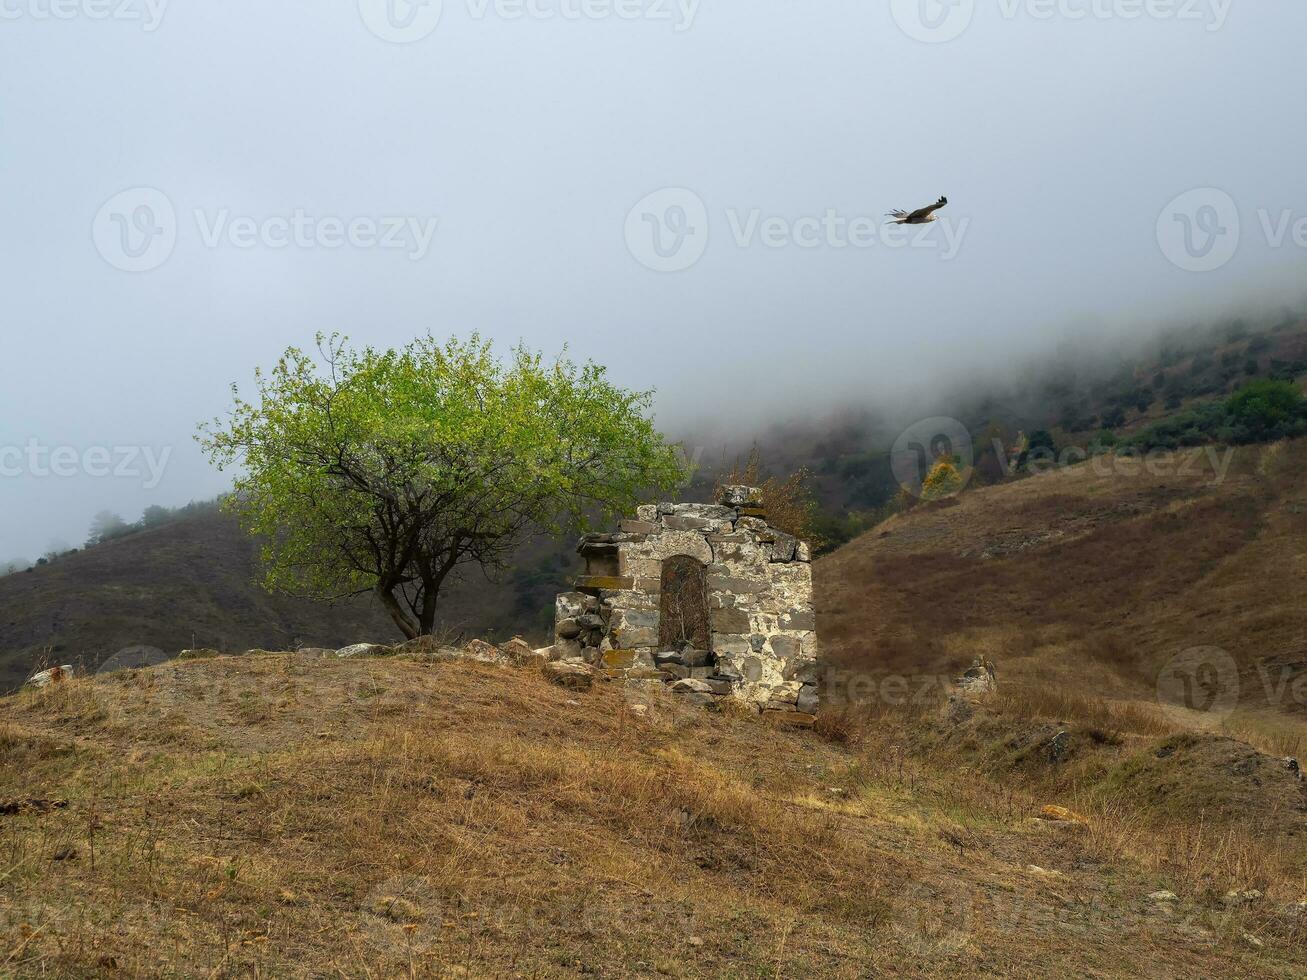
[[[847,720],[890,754],[1149,828],[1172,865],[1217,852],[1302,891],[1307,783],[1285,757],[1307,749],[1307,440],[1240,447],[1218,476],[1222,459],[984,487],[819,562]],[[941,716],[978,655],[997,695]]]

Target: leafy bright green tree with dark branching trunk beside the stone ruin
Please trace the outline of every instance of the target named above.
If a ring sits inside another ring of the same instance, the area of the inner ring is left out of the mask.
[[[430,634],[460,571],[503,568],[532,532],[626,512],[686,478],[648,418],[651,395],[603,367],[473,335],[353,350],[318,337],[322,366],[290,348],[257,396],[200,426],[225,506],[263,538],[269,591],[374,593],[405,636]]]

